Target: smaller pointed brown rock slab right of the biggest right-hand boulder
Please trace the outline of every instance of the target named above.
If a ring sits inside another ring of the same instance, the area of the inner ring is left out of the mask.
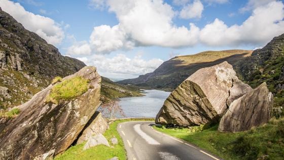
[[[231,103],[219,124],[219,131],[240,132],[267,123],[273,107],[273,94],[266,83]]]

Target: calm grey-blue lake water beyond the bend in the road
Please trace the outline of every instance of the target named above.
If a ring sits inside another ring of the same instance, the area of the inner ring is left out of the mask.
[[[161,90],[145,90],[144,97],[129,97],[119,99],[127,117],[156,117],[168,98],[170,92]]]

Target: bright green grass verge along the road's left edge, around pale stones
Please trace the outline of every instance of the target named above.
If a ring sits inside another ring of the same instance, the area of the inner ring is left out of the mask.
[[[120,160],[126,159],[126,151],[124,149],[124,144],[122,138],[119,136],[117,131],[117,125],[121,122],[133,121],[133,120],[153,120],[153,119],[122,119],[116,120],[110,125],[110,129],[105,131],[103,136],[108,139],[110,145],[110,139],[116,137],[118,139],[118,144],[112,147],[107,147],[104,145],[98,145],[91,147],[90,149],[84,150],[83,147],[85,143],[72,146],[68,148],[63,154],[57,155],[56,160],[67,160],[67,159],[84,159],[84,160],[94,160],[94,159],[110,159],[117,156]]]

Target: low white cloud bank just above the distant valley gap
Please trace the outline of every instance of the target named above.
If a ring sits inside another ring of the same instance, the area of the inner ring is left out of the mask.
[[[94,54],[90,57],[78,59],[84,61],[87,65],[96,66],[100,73],[119,73],[136,76],[153,72],[163,63],[163,60],[158,58],[144,60],[140,55],[136,55],[131,59],[125,54],[117,54],[112,58]]]

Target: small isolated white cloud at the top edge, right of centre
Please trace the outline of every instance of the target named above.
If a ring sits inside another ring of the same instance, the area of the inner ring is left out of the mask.
[[[183,7],[180,17],[183,19],[201,18],[203,5],[199,0],[195,0],[192,4]]]

